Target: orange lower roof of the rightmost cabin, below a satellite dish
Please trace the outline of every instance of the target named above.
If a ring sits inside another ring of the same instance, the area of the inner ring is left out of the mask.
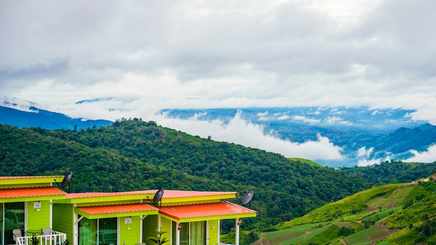
[[[247,207],[223,201],[219,203],[166,206],[161,207],[159,213],[180,221],[181,219],[189,218],[256,214],[257,212],[250,210]]]

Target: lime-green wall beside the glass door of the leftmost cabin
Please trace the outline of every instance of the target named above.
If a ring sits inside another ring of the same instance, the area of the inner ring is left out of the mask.
[[[49,200],[42,200],[41,207],[38,209],[33,207],[33,202],[26,202],[26,205],[27,205],[27,230],[40,232],[42,228],[50,228],[50,201]]]

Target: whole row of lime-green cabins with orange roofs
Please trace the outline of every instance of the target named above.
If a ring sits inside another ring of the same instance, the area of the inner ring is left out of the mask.
[[[234,220],[235,243],[239,244],[242,219],[257,216],[256,211],[228,201],[237,198],[238,192],[159,189],[65,193],[53,185],[62,177],[0,177],[2,217],[7,210],[22,210],[21,218],[2,228],[1,244],[30,244],[32,237],[39,244],[62,244],[65,240],[72,245],[154,244],[152,237],[160,235],[166,244],[214,245],[221,244],[220,227],[225,219]],[[36,179],[43,179],[47,186],[29,183]],[[15,180],[15,184],[1,180]],[[35,192],[35,188],[46,191]],[[23,191],[28,194],[21,194]],[[3,198],[5,194],[12,199]],[[21,203],[20,208],[17,203]],[[20,236],[13,235],[17,229]]]

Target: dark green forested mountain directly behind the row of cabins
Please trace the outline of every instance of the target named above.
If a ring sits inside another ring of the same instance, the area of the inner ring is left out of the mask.
[[[421,168],[431,172],[435,164],[414,164],[407,169],[410,176],[396,181],[415,180]],[[80,130],[0,125],[1,175],[72,171],[72,192],[163,188],[243,194],[252,189],[251,208],[259,215],[246,223],[251,228],[288,221],[393,180],[364,175],[359,169],[346,172],[290,161],[265,150],[202,139],[136,118]]]

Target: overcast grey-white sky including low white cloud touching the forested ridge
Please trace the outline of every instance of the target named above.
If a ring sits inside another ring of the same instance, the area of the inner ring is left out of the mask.
[[[0,98],[340,159],[323,136],[281,142],[235,116],[247,130],[235,139],[222,122],[156,111],[369,106],[413,109],[435,125],[435,9],[433,0],[0,1]]]

